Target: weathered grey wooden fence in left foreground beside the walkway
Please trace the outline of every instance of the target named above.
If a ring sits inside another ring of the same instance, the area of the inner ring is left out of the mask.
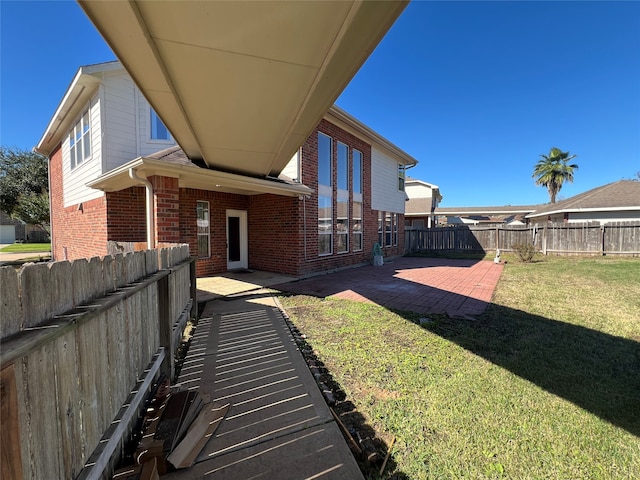
[[[194,266],[180,245],[0,268],[2,478],[108,478],[173,376]]]

